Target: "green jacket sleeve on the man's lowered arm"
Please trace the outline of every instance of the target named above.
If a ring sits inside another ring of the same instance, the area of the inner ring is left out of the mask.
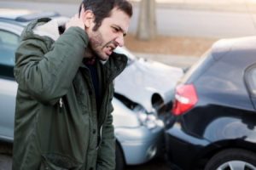
[[[114,170],[115,169],[115,137],[113,133],[113,105],[110,104],[108,119],[102,127],[102,144],[98,150],[96,170]]]

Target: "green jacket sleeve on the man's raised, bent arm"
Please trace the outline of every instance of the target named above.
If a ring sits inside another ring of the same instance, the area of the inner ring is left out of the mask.
[[[15,54],[15,79],[34,99],[51,105],[67,94],[81,65],[88,37],[71,27],[53,45],[49,37],[32,35],[20,42]]]

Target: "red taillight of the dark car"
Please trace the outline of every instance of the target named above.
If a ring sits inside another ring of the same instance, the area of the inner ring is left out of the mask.
[[[195,87],[193,84],[177,86],[175,100],[172,106],[172,113],[175,116],[182,115],[194,107],[198,101]]]

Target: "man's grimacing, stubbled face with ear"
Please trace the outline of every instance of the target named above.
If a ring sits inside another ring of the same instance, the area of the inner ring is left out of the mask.
[[[113,8],[111,15],[102,20],[102,25],[93,31],[95,24],[86,29],[90,38],[90,50],[92,54],[101,60],[108,60],[117,46],[124,46],[124,37],[128,31],[131,18],[123,11]],[[94,57],[94,56],[93,56]]]

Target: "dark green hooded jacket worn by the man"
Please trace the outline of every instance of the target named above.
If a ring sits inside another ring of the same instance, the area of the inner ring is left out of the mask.
[[[113,79],[125,69],[125,55],[97,61],[102,106],[89,69],[82,64],[86,33],[72,27],[54,41],[33,29],[49,19],[35,20],[23,31],[16,51],[16,97],[13,170],[115,167]]]

